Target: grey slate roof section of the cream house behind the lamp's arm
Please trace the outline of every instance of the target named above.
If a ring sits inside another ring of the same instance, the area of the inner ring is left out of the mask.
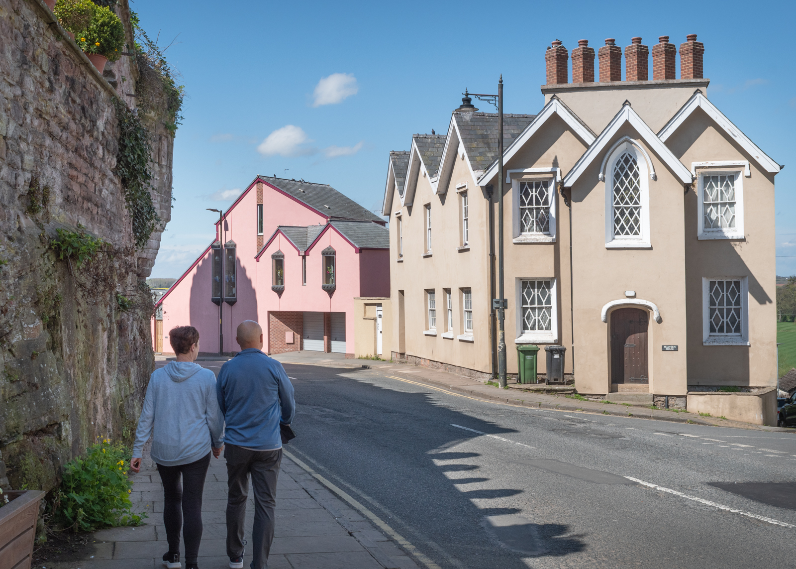
[[[470,120],[464,120],[460,112],[454,112],[453,116],[473,170],[486,170],[497,160],[497,113],[474,112]],[[503,115],[504,151],[535,117],[536,115]]]

